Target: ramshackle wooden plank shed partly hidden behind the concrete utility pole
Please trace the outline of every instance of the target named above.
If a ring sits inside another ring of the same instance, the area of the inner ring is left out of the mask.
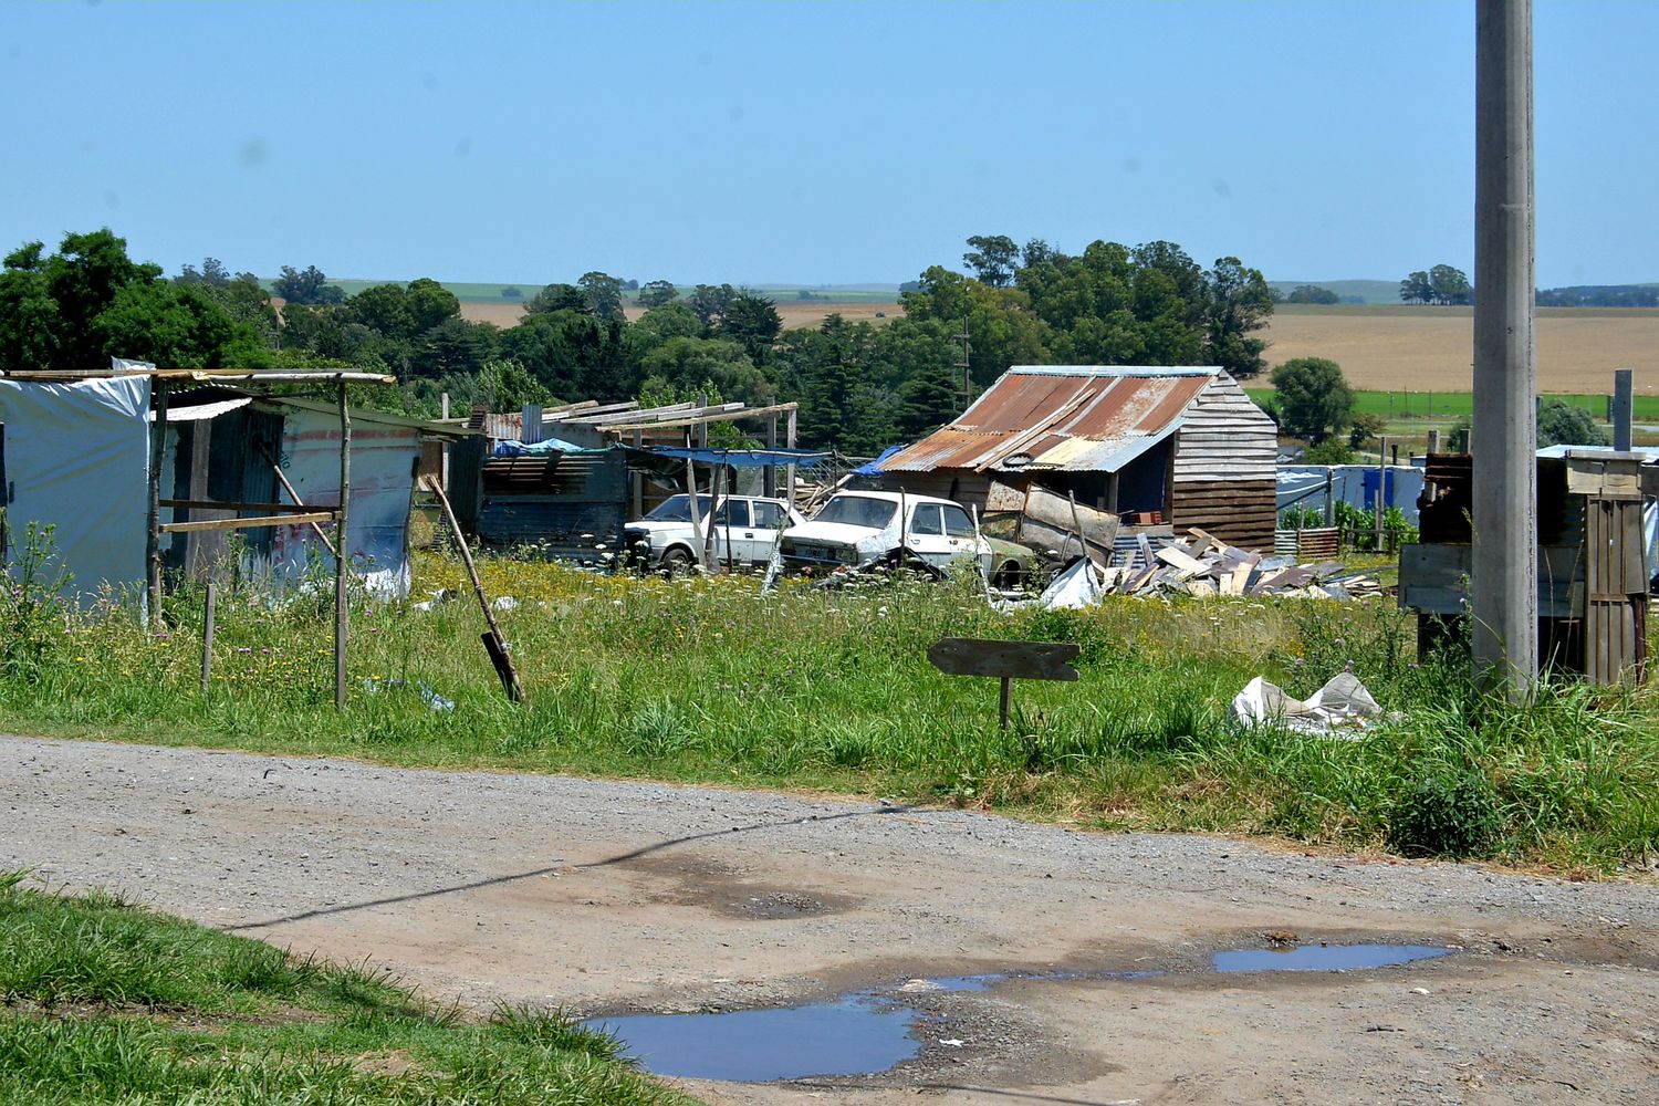
[[[1400,547],[1400,607],[1418,614],[1418,648],[1458,632],[1473,567],[1473,461],[1432,453],[1420,544]],[[1594,683],[1647,678],[1651,565],[1644,506],[1659,468],[1636,453],[1568,446],[1538,458],[1541,663]]]

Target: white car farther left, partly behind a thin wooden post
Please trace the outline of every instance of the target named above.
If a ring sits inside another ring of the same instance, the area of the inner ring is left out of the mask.
[[[730,564],[745,567],[768,564],[778,534],[805,522],[801,512],[781,499],[755,496],[722,496],[718,506],[713,496],[697,496],[697,517],[705,527],[713,526],[715,562],[727,564],[730,554]],[[629,564],[645,569],[682,572],[697,564],[690,496],[669,496],[644,519],[629,522],[622,531],[622,544]]]

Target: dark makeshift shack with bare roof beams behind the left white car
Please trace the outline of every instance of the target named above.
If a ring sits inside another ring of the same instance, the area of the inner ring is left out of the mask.
[[[795,413],[795,403],[642,408],[639,403],[584,401],[528,406],[506,415],[478,408],[456,420],[479,429],[483,438],[450,449],[448,494],[461,527],[486,547],[533,549],[544,557],[604,564],[622,549],[622,527],[629,519],[644,514],[664,494],[680,491],[657,484],[654,476],[662,466],[630,461],[630,449],[703,448],[712,424],[745,421],[773,449],[780,444],[781,421],[785,448],[793,449]],[[722,479],[735,479],[732,466],[710,468],[718,468]],[[783,468],[783,484],[793,489],[793,466]],[[780,488],[776,469],[765,469],[765,494],[776,494]]]

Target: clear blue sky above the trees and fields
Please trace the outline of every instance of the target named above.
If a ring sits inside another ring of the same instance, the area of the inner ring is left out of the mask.
[[[1538,279],[1659,280],[1652,0],[1538,0]],[[1473,267],[1472,0],[0,3],[0,247],[898,282],[971,234]]]

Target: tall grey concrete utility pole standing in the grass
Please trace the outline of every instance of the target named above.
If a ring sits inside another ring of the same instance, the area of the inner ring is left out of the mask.
[[[1533,5],[1475,5],[1475,680],[1511,701],[1538,677],[1533,363]]]

